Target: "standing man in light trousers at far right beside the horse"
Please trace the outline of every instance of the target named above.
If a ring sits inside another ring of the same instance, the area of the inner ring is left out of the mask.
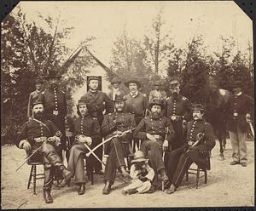
[[[229,101],[227,128],[230,131],[230,142],[233,149],[233,162],[230,165],[247,166],[247,127],[253,111],[253,98],[242,93],[242,83],[232,84],[233,96]]]

